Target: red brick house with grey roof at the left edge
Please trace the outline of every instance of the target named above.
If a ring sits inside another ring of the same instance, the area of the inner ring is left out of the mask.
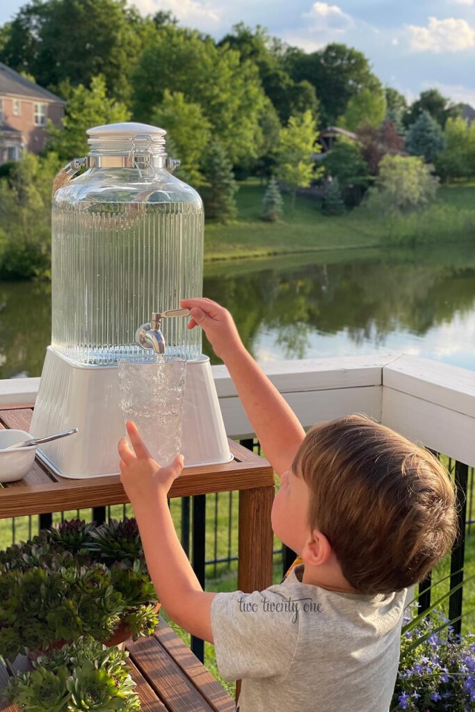
[[[48,119],[61,125],[66,102],[0,62],[0,164],[23,149],[40,153]]]

